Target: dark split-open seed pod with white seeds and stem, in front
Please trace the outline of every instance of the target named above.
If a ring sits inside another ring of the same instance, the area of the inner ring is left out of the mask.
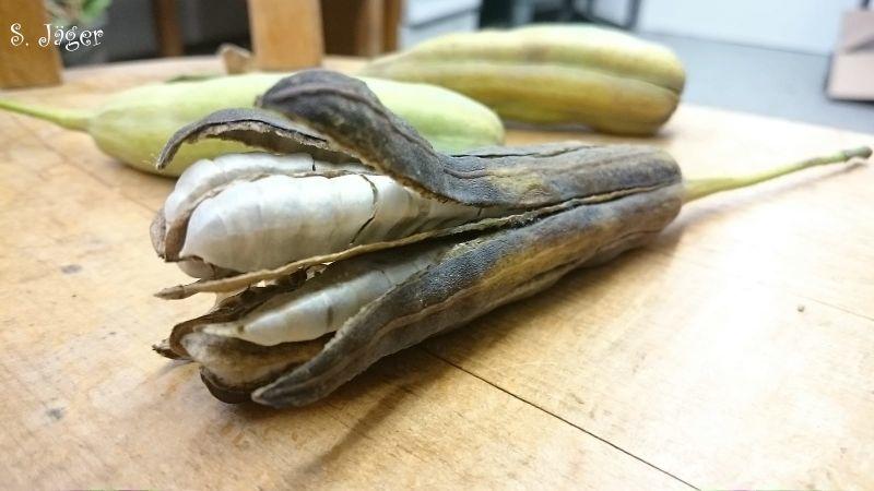
[[[444,155],[332,72],[284,79],[259,104],[181,129],[162,153],[166,165],[203,137],[268,152],[196,164],[158,213],[155,250],[200,278],[158,295],[221,300],[156,349],[199,362],[223,400],[276,407],[646,243],[684,201],[871,152],[683,182],[647,146]]]

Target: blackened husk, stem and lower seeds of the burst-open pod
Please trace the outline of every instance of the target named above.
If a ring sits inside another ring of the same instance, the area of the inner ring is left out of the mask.
[[[684,202],[871,153],[859,148],[756,176],[683,182],[673,159],[649,147],[570,142],[442,155],[362,83],[331,72],[286,79],[260,104],[295,122],[251,110],[214,115],[180,130],[161,163],[200,137],[257,142],[273,152],[330,152],[357,160],[370,172],[363,175],[390,178],[422,196],[503,211],[446,233],[378,237],[336,252],[317,248],[309,251],[315,256],[274,270],[165,291],[179,298],[245,288],[174,327],[156,349],[200,362],[204,383],[223,400],[276,407],[311,403],[382,356],[646,243]],[[331,264],[307,273],[323,262]]]

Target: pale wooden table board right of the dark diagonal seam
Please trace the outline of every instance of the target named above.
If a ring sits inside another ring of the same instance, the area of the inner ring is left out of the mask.
[[[647,143],[695,177],[874,136],[683,107]],[[845,166],[695,203],[653,247],[425,349],[701,488],[870,489],[872,182]]]

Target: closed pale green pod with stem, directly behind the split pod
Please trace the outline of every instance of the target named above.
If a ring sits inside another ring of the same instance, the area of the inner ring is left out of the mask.
[[[85,131],[107,155],[156,172],[155,158],[176,130],[222,108],[251,106],[258,95],[283,76],[250,73],[143,85],[115,94],[94,110],[50,109],[10,99],[0,99],[0,109]],[[460,152],[504,141],[498,117],[475,100],[427,84],[363,80],[386,107],[441,152]],[[247,145],[239,142],[200,142],[182,148],[162,173],[178,176],[201,158],[246,151]]]

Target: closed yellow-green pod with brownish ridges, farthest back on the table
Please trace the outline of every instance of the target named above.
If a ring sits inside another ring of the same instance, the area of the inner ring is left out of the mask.
[[[587,25],[451,34],[379,58],[362,74],[441,85],[506,119],[621,134],[654,133],[685,83],[670,49]]]

